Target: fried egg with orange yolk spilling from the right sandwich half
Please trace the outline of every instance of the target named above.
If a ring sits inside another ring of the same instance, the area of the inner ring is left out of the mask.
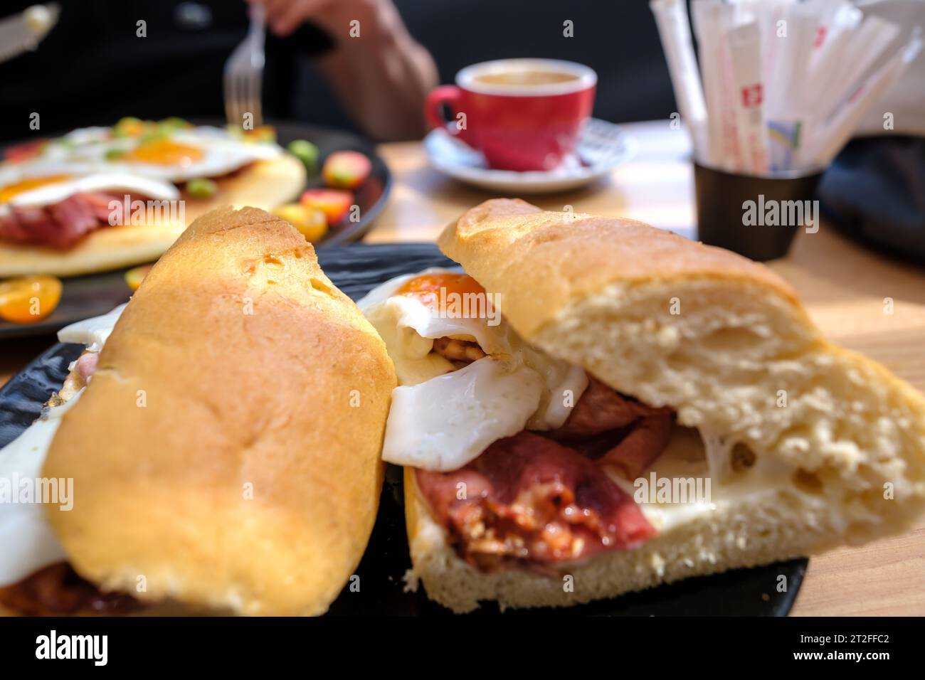
[[[392,278],[358,303],[399,378],[383,446],[389,463],[458,469],[524,427],[561,427],[587,387],[581,366],[525,343],[500,315],[500,301],[475,305],[481,316],[450,315],[448,304],[436,304],[450,302],[450,293],[485,295],[473,278],[431,268]],[[433,352],[438,338],[476,342],[487,356],[456,370]]]

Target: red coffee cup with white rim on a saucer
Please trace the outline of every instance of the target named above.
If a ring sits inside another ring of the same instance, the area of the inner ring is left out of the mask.
[[[574,149],[597,84],[592,68],[571,61],[487,61],[428,94],[424,113],[431,128],[481,151],[491,167],[551,170]]]

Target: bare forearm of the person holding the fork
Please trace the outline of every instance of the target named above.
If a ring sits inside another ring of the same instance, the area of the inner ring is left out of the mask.
[[[405,30],[394,6],[370,2],[367,9],[328,25],[336,46],[318,65],[369,136],[383,141],[418,138],[425,131],[423,103],[438,83],[437,68]],[[360,22],[359,37],[350,36],[352,19]]]

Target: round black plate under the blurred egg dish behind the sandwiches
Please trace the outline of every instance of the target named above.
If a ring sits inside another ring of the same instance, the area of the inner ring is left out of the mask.
[[[221,125],[217,120],[197,120],[197,123]],[[350,132],[318,128],[313,125],[291,122],[274,122],[277,140],[286,146],[293,140],[308,140],[318,147],[318,167],[335,151],[358,151],[366,155],[373,165],[372,172],[363,185],[355,192],[356,204],[360,206],[360,221],[347,222],[333,227],[327,237],[315,248],[322,250],[331,245],[358,241],[373,226],[373,220],[382,212],[391,190],[392,176],[386,162],[376,155],[372,143],[366,142]],[[320,175],[309,177],[306,189],[324,186]],[[14,324],[0,319],[0,340],[25,338],[46,333],[53,333],[70,323],[90,316],[105,314],[117,304],[126,302],[131,291],[125,282],[125,272],[130,267],[82,277],[62,279],[64,290],[61,302],[55,311],[35,324]]]

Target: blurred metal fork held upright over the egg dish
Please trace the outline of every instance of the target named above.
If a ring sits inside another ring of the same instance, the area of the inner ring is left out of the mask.
[[[264,7],[251,6],[251,25],[247,36],[225,62],[225,117],[229,125],[244,125],[244,116],[253,116],[253,127],[264,122],[261,93],[264,83]]]

